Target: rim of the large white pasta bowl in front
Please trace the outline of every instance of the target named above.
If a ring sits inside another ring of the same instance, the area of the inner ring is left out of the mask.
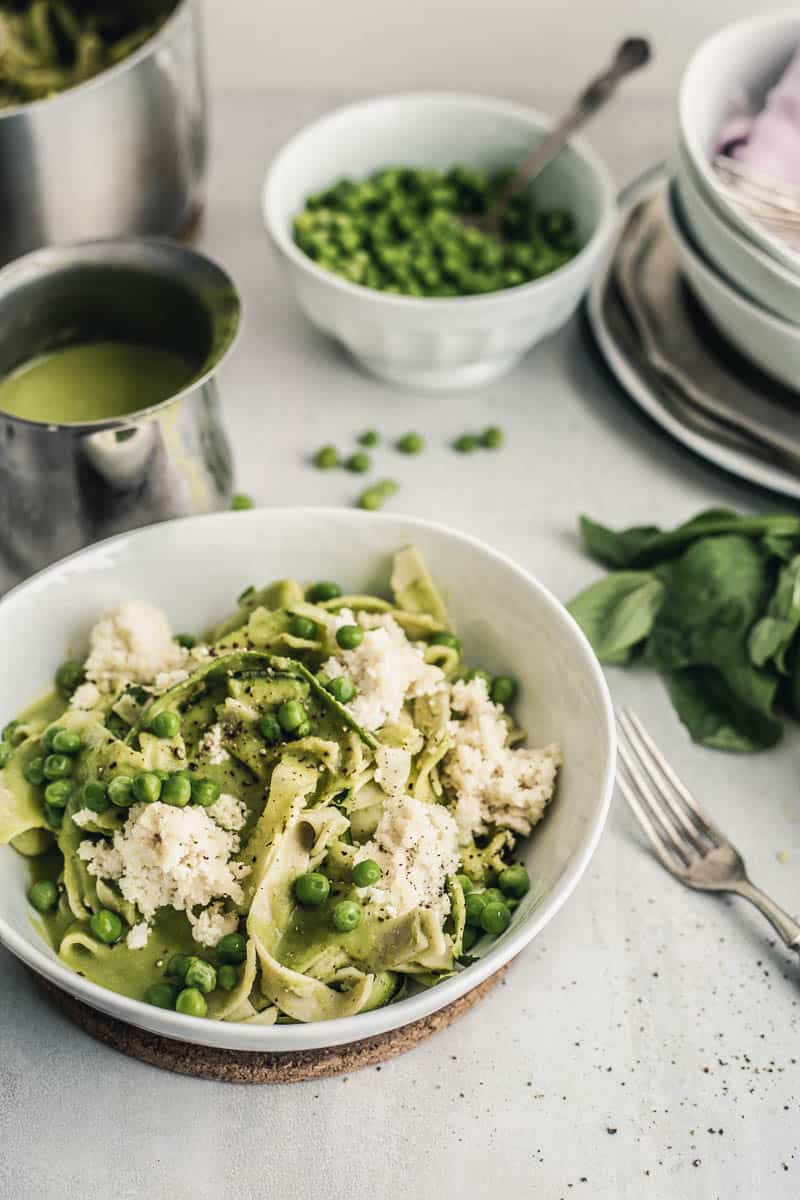
[[[43,950],[40,950],[34,943],[26,941],[26,938],[11,929],[2,913],[0,913],[0,943],[26,966],[46,979],[50,979],[62,991],[66,991],[67,995],[85,1001],[92,1008],[112,1013],[118,1019],[139,1028],[154,1028],[155,1022],[160,1027],[160,1032],[163,1032],[164,1036],[181,1042],[233,1050],[279,1052],[319,1049],[359,1042],[363,1038],[374,1037],[378,1033],[399,1028],[403,1025],[420,1020],[431,1013],[445,1008],[461,996],[467,995],[467,992],[471,991],[485,979],[488,979],[489,976],[499,971],[500,967],[505,966],[506,962],[524,949],[545,925],[552,920],[572,894],[597,847],[614,790],[616,726],[608,684],[595,653],[575,618],[548,588],[540,583],[525,568],[515,563],[507,554],[494,550],[479,538],[452,529],[438,521],[427,521],[421,517],[404,516],[403,514],[360,512],[355,509],[335,506],[296,506],[261,508],[251,510],[249,512],[215,512],[192,517],[178,517],[161,524],[145,526],[142,529],[106,538],[102,541],[94,542],[91,546],[76,551],[76,553],[53,563],[50,566],[46,566],[29,580],[18,583],[0,599],[0,613],[8,606],[24,605],[29,593],[36,593],[37,589],[47,586],[52,576],[58,576],[65,566],[76,563],[82,557],[92,554],[102,556],[109,548],[121,546],[127,541],[136,541],[142,535],[152,535],[154,532],[157,533],[164,527],[172,528],[180,524],[185,528],[186,522],[194,524],[203,522],[219,526],[234,521],[252,521],[255,523],[264,520],[266,514],[276,522],[284,521],[287,517],[307,518],[309,521],[318,521],[320,517],[326,520],[344,520],[350,521],[354,526],[363,526],[366,522],[383,522],[391,526],[402,522],[403,526],[411,530],[421,529],[434,534],[444,534],[447,538],[461,541],[486,554],[489,559],[507,570],[511,570],[531,590],[537,593],[545,607],[570,629],[575,640],[575,648],[582,653],[583,666],[600,698],[608,744],[608,761],[600,785],[600,797],[594,816],[587,823],[581,845],[575,852],[572,862],[570,862],[554,888],[542,898],[529,920],[522,924],[519,929],[505,935],[483,958],[459,974],[450,979],[444,979],[434,988],[428,988],[417,996],[410,996],[398,1001],[396,1004],[386,1004],[369,1013],[360,1013],[355,1016],[337,1018],[336,1020],[318,1021],[309,1025],[258,1026],[235,1021],[215,1021],[209,1018],[185,1016],[181,1013],[173,1013],[169,1009],[154,1009],[145,1001],[131,1000],[108,988],[102,988],[71,971],[62,962],[59,962],[58,959],[53,960],[48,958]],[[467,985],[464,985],[465,980]],[[144,1020],[139,1014],[148,1014],[148,1019]]]

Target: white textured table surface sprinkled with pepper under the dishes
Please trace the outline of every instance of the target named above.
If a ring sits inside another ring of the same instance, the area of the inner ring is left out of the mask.
[[[581,511],[672,524],[709,504],[771,503],[639,416],[579,322],[485,391],[432,400],[359,374],[287,300],[259,220],[263,166],[330,102],[216,107],[204,244],[247,308],[224,378],[240,487],[263,504],[347,504],[357,480],[309,470],[309,448],[367,425],[422,430],[425,455],[387,457],[403,485],[392,503],[486,539],[564,599],[596,574],[576,541]],[[668,102],[622,104],[594,140],[624,181],[670,134]],[[489,421],[507,431],[500,454],[446,448]],[[616,671],[610,684],[754,878],[800,907],[800,739],[716,755],[688,743],[656,678]],[[800,968],[741,905],[670,881],[619,803],[577,893],[507,980],[446,1033],[350,1078],[243,1087],[168,1075],[79,1033],[4,952],[0,965],[2,1200],[800,1194]]]

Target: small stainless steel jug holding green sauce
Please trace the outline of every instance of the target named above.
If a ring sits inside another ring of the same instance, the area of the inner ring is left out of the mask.
[[[158,239],[53,246],[0,271],[0,377],[58,347],[132,341],[197,364],[176,396],[86,425],[0,412],[0,560],[19,580],[89,542],[224,508],[231,460],[215,376],[239,328],[230,277]]]

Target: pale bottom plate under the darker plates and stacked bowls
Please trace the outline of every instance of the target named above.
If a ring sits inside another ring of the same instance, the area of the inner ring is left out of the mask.
[[[648,192],[661,186],[664,178],[666,168],[660,164],[644,172],[638,180],[625,188],[625,192],[620,198],[620,229],[624,227],[633,205]],[[690,430],[687,426],[676,420],[664,407],[657,391],[650,385],[648,379],[637,371],[636,366],[620,350],[612,331],[606,324],[603,316],[603,296],[608,286],[608,277],[610,275],[612,263],[614,259],[614,250],[615,246],[606,256],[601,269],[596,272],[593,280],[591,288],[589,289],[589,295],[587,298],[587,316],[589,318],[589,324],[612,374],[622,385],[631,400],[633,400],[639,408],[648,414],[648,416],[651,416],[662,430],[670,433],[676,442],[680,442],[682,445],[693,450],[694,454],[705,458],[708,462],[714,463],[716,467],[721,467],[722,470],[727,470],[732,475],[736,475],[739,479],[744,479],[750,484],[757,484],[759,487],[766,487],[772,492],[778,492],[782,496],[789,496],[795,500],[800,500],[800,479],[798,479],[796,475],[792,475],[789,472],[783,470],[780,467],[774,467],[770,463],[763,462],[760,458],[756,458],[742,450],[736,450],[732,446],[714,442],[711,438],[703,437],[702,433],[696,433],[693,430]]]

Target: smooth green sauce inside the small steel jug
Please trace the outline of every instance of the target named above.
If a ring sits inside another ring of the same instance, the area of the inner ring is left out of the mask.
[[[0,379],[0,412],[55,425],[103,421],[168,400],[194,373],[187,359],[157,346],[67,346]]]

